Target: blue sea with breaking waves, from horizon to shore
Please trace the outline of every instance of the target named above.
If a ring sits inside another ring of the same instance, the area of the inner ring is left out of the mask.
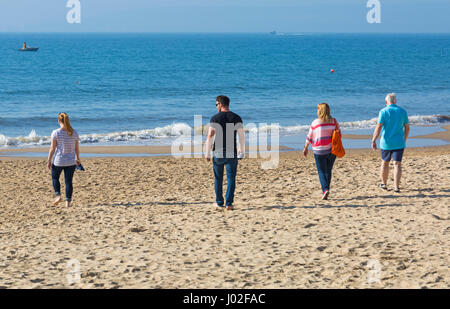
[[[48,144],[59,112],[85,144],[170,143],[219,94],[285,135],[321,102],[366,133],[390,92],[413,125],[448,123],[450,35],[0,34],[0,147]]]

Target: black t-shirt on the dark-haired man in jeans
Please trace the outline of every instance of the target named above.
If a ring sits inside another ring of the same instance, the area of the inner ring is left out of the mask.
[[[211,118],[210,125],[216,131],[214,155],[218,158],[237,158],[237,130],[244,127],[241,117],[233,112],[220,112]]]

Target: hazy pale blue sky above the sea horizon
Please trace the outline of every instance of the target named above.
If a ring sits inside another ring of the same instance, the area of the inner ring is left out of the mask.
[[[450,32],[450,0],[380,0],[381,24],[367,0],[79,1],[68,24],[67,0],[0,0],[0,32]]]

